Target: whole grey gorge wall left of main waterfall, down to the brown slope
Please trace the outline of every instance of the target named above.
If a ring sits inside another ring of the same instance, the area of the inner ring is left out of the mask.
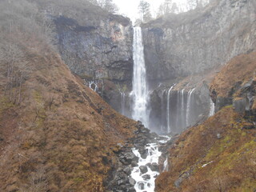
[[[78,17],[63,12],[50,13],[50,18],[58,50],[70,70],[121,112],[122,96],[130,92],[133,74],[130,19],[93,5]]]

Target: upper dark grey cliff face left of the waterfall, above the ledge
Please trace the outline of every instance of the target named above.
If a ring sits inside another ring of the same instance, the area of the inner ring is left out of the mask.
[[[130,20],[114,14],[91,18],[82,25],[73,18],[54,18],[63,60],[70,70],[84,78],[130,80],[133,67]]]

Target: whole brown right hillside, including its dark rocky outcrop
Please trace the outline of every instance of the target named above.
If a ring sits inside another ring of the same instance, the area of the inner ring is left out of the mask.
[[[174,142],[170,170],[160,174],[157,191],[255,190],[255,104],[250,102],[241,111],[235,102],[238,96],[254,98],[255,67],[255,53],[239,55],[222,67],[211,90],[231,103],[222,103],[217,114]]]

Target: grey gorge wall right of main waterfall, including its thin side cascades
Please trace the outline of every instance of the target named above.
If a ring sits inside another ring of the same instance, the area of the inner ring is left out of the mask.
[[[155,129],[166,132],[171,126],[175,134],[208,118],[213,109],[209,85],[215,73],[234,56],[254,51],[255,9],[252,1],[219,0],[203,10],[170,14],[142,25]],[[230,103],[214,102],[216,110]]]

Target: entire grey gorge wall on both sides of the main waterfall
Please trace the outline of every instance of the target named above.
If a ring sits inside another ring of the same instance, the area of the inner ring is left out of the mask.
[[[132,24],[92,9],[82,15],[85,19],[52,14],[62,59],[115,110],[131,117]],[[216,0],[202,10],[142,25],[151,130],[179,133],[208,117],[213,71],[254,50],[255,18],[255,2]]]

